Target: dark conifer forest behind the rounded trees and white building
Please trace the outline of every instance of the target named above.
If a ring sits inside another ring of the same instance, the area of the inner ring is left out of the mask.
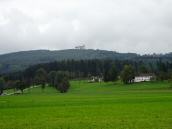
[[[50,71],[68,71],[69,78],[87,78],[92,76],[109,75],[110,71],[115,71],[117,75],[120,75],[125,65],[130,65],[134,69],[136,75],[154,73],[160,80],[168,79],[172,73],[172,63],[162,62],[158,60],[155,63],[145,63],[143,61],[131,61],[131,60],[67,60],[60,62],[44,63],[31,66],[23,72],[23,76],[33,77],[35,71],[39,68],[44,68],[46,72]],[[108,74],[107,74],[108,73]],[[162,74],[164,78],[160,76]],[[106,78],[107,76],[105,76]],[[105,79],[106,80],[106,79]]]

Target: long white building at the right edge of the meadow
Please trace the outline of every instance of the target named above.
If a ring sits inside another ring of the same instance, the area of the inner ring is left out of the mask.
[[[152,75],[140,75],[140,76],[135,76],[134,82],[149,82],[153,78]]]

